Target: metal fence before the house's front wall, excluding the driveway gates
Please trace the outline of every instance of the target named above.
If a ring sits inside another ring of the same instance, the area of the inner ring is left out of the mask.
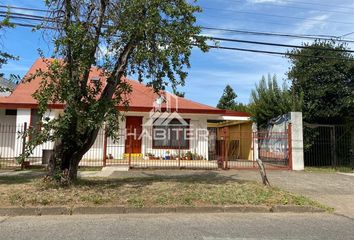
[[[20,168],[18,157],[24,152],[29,140],[21,133],[26,125],[0,125],[0,168]],[[128,166],[129,168],[178,168],[178,169],[217,169],[218,154],[209,155],[208,139],[197,133],[186,142],[177,141],[173,147],[154,146],[158,142],[152,140],[153,127],[138,129],[120,129],[118,138],[107,137],[101,129],[95,143],[83,156],[79,166],[104,167]],[[138,144],[138,151],[136,151]],[[47,157],[53,151],[53,142],[37,146],[26,158],[25,167],[45,166]],[[211,157],[211,158],[210,158]]]

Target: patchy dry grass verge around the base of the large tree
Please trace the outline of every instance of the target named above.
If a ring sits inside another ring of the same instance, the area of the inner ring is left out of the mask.
[[[255,174],[258,174],[255,172]],[[306,197],[217,173],[80,179],[70,187],[42,177],[0,176],[0,207],[210,205],[303,205],[325,208]]]

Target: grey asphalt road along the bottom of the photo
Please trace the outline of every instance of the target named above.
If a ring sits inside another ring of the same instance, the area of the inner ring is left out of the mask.
[[[0,217],[0,239],[354,239],[333,214],[130,214]]]

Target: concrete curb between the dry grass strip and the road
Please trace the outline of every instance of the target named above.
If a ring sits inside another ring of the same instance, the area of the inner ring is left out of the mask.
[[[162,213],[320,213],[310,206],[210,206],[210,207],[29,207],[0,208],[0,216],[83,215],[83,214],[162,214]]]

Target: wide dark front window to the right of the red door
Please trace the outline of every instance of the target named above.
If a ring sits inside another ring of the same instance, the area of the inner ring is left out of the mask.
[[[166,126],[153,127],[153,147],[188,149],[188,135],[189,125],[181,123],[178,119],[173,119]]]

